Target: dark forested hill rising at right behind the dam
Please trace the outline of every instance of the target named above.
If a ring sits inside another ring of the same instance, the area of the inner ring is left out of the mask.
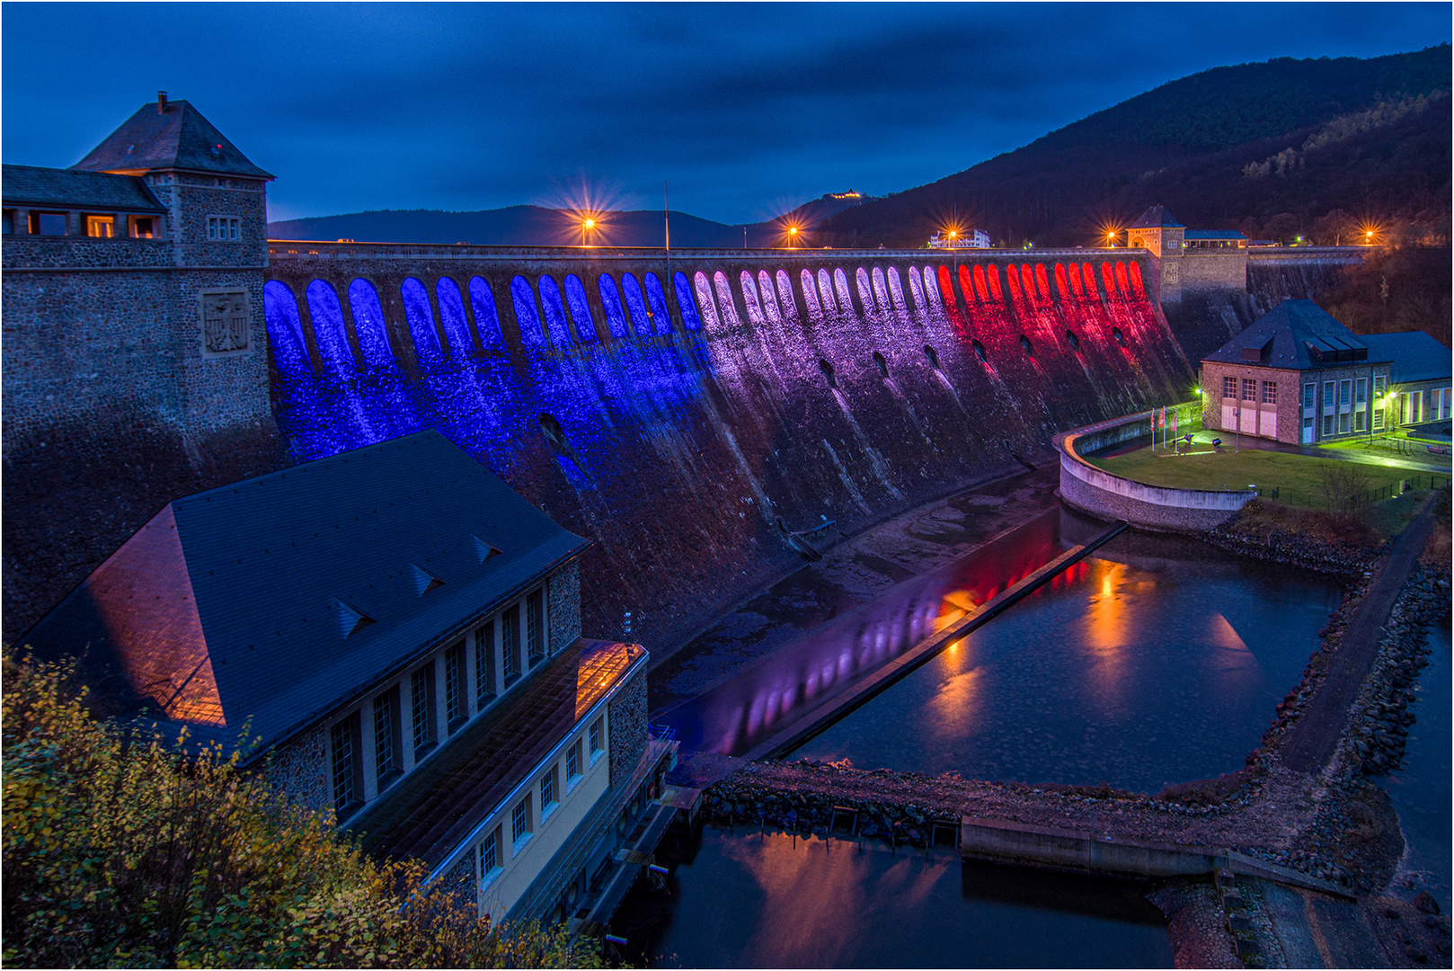
[[[1131,98],[938,182],[829,220],[819,240],[919,246],[951,213],[996,245],[1077,246],[1146,207],[1249,236],[1450,213],[1450,45],[1218,67]]]

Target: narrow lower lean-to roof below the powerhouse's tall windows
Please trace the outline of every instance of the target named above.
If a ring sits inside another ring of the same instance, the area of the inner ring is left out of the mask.
[[[577,641],[371,802],[348,828],[369,852],[429,866],[500,808],[590,708],[646,658],[637,643]]]

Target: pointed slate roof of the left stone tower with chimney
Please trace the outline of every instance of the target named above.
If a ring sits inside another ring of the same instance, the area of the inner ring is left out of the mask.
[[[273,178],[249,162],[202,112],[185,100],[167,102],[164,112],[157,111],[156,102],[142,105],[71,167],[86,172],[190,169]]]

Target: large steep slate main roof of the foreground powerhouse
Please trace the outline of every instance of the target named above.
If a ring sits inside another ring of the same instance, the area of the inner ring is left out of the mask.
[[[84,654],[105,713],[262,751],[586,546],[423,431],[172,501],[20,643]]]

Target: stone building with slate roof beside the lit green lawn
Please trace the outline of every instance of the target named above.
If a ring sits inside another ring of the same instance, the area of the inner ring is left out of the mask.
[[[1202,358],[1202,425],[1307,445],[1448,421],[1450,371],[1422,330],[1358,336],[1312,300],[1284,300]]]

